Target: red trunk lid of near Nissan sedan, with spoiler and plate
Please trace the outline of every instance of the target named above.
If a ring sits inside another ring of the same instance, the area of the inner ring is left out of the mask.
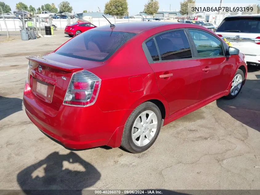
[[[74,72],[90,69],[100,64],[87,60],[75,60],[55,53],[29,56],[32,93],[46,106],[59,110]],[[84,61],[84,62],[83,62]]]

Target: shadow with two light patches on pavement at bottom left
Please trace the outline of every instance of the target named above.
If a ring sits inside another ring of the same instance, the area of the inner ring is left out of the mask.
[[[98,170],[76,153],[53,152],[19,172],[17,182],[26,195],[82,195],[82,189],[100,177]]]

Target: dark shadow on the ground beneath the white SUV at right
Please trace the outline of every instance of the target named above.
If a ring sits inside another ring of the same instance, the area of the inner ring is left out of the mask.
[[[257,77],[257,75],[255,75]],[[217,106],[234,119],[260,132],[260,79],[246,80],[233,100],[220,98]]]

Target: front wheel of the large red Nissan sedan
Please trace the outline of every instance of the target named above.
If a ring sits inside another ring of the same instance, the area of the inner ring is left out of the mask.
[[[229,95],[225,96],[226,99],[234,99],[240,93],[243,87],[243,81],[245,79],[244,72],[240,69],[236,71],[236,74],[232,80],[232,86],[230,88]],[[234,83],[234,84],[233,84]]]

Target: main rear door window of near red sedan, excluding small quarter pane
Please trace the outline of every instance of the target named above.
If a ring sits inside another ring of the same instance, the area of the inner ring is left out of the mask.
[[[183,30],[168,32],[155,39],[162,60],[192,58],[190,44]]]

